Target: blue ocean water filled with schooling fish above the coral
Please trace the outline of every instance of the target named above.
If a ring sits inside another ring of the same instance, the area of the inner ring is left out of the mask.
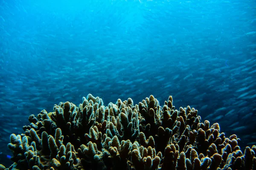
[[[256,144],[255,0],[0,0],[0,163],[30,114],[87,94],[198,110]]]

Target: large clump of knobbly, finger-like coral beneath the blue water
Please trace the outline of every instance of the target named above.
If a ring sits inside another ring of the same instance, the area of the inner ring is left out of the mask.
[[[152,95],[104,106],[89,94],[29,121],[10,136],[9,170],[256,170],[255,145],[242,153],[236,135],[201,122],[194,108],[175,110],[172,96],[163,107]]]

